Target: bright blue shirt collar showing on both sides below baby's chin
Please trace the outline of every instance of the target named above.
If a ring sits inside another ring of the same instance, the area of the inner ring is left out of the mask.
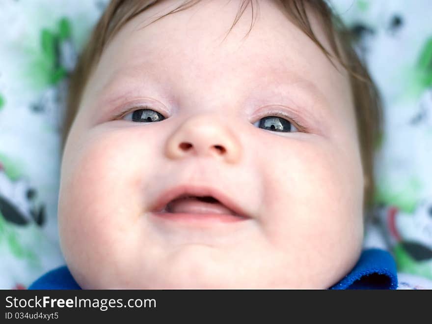
[[[363,250],[357,264],[341,281],[329,289],[396,289],[398,277],[396,263],[384,250]],[[44,274],[28,289],[81,289],[67,266]]]

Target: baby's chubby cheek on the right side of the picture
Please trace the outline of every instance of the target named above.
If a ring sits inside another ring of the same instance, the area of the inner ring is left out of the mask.
[[[265,235],[289,263],[320,265],[317,275],[337,277],[353,265],[363,238],[359,155],[323,138],[293,140],[273,152],[271,168],[264,168]]]

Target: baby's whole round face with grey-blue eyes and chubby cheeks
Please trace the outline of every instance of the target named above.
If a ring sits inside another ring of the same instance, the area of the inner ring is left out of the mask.
[[[273,1],[243,40],[250,7],[222,42],[240,0],[140,29],[181,2],[124,26],[86,86],[59,196],[72,274],[87,289],[328,288],[363,238],[348,76]],[[196,199],[154,212],[179,188],[243,217]]]

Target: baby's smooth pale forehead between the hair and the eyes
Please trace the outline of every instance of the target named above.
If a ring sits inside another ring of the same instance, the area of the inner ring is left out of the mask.
[[[200,1],[149,25],[183,2],[158,2],[120,29],[96,69],[95,92],[132,87],[139,79],[171,93],[198,95],[225,85],[224,94],[232,98],[246,85],[249,90],[286,86],[330,107],[341,96],[351,100],[345,71],[335,69],[278,1],[257,1],[253,20],[249,5],[231,30],[242,0]],[[318,20],[308,13],[317,37],[330,49]]]

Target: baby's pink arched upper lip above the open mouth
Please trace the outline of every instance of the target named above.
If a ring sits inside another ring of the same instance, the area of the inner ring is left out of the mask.
[[[155,204],[151,208],[151,211],[161,212],[170,201],[182,196],[212,196],[221,204],[232,210],[236,215],[250,218],[250,216],[246,214],[241,206],[237,205],[219,190],[212,187],[193,185],[180,185],[164,191],[162,195],[156,200]]]

